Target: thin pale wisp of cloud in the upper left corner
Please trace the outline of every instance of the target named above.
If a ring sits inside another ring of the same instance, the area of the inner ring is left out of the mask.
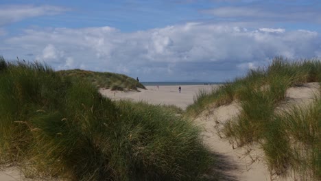
[[[0,26],[35,16],[60,14],[67,10],[54,5],[0,5]]]

